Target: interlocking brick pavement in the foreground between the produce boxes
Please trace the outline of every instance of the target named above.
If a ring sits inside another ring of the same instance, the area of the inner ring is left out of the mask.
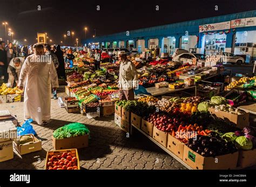
[[[58,96],[65,96],[64,90],[61,91]],[[17,115],[22,123],[23,103],[0,104],[0,110],[4,109]],[[33,124],[43,149],[22,156],[14,149],[14,159],[1,162],[0,169],[44,169],[46,152],[53,150],[52,130],[74,121],[85,124],[91,131],[89,147],[78,150],[81,169],[186,169],[139,132],[134,131],[126,138],[113,120],[113,116],[87,119],[82,114],[67,113],[52,99],[49,124]]]

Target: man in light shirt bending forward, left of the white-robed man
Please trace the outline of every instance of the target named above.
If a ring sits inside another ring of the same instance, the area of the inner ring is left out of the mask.
[[[8,83],[11,84],[11,88],[14,87],[14,83],[16,83],[16,85],[18,85],[19,73],[21,73],[23,61],[24,61],[23,57],[15,57],[15,58],[11,59],[11,61],[9,63],[7,72],[9,74]]]

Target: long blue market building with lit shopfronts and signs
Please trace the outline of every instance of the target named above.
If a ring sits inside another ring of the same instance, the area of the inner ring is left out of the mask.
[[[138,52],[160,48],[170,55],[177,48],[204,54],[231,52],[249,62],[256,58],[256,10],[103,35],[83,39],[82,44]]]

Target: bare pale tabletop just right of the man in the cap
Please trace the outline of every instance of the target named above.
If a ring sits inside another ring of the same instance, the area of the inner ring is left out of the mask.
[[[182,91],[182,90],[187,90],[187,89],[191,89],[191,88],[194,89],[195,96],[196,96],[197,95],[197,87],[196,86],[185,87],[185,88],[180,88],[180,89],[150,87],[150,88],[146,88],[146,90],[147,90],[147,92],[151,93],[152,96],[159,96],[159,95],[164,95],[166,93]],[[140,95],[135,96],[135,99],[139,99],[140,97],[143,97],[143,95],[142,96],[140,96]]]

